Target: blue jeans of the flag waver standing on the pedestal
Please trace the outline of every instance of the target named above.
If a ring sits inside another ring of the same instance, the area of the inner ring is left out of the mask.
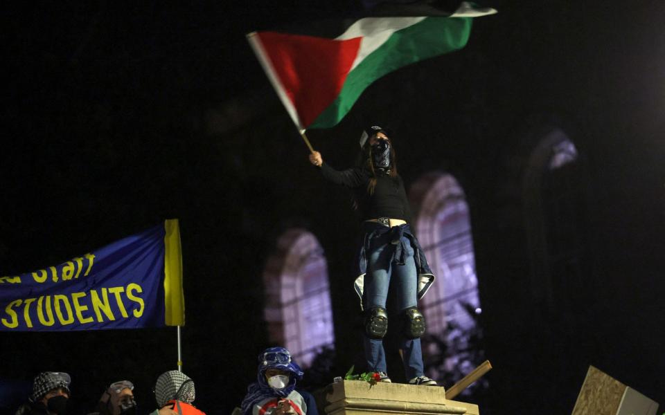
[[[393,288],[396,288],[397,306],[400,311],[418,304],[418,273],[414,262],[414,248],[411,247],[407,237],[402,237],[400,242],[406,251],[404,265],[393,263],[396,245],[390,243],[389,234],[375,237],[371,241],[367,252],[368,264],[365,275],[366,304],[369,309],[386,307],[391,281],[393,285],[396,284]],[[420,348],[420,339],[407,339],[402,335],[399,347],[407,380],[423,376],[423,351]],[[383,340],[371,339],[365,335],[364,348],[368,370],[387,372]]]

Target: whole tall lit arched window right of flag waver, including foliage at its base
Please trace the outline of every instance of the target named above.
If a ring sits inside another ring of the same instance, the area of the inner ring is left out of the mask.
[[[464,192],[454,177],[439,172],[420,178],[409,194],[416,207],[416,236],[436,282],[420,301],[427,334],[423,358],[427,375],[452,385],[484,360],[477,314],[481,313]],[[486,380],[463,395],[486,388]]]

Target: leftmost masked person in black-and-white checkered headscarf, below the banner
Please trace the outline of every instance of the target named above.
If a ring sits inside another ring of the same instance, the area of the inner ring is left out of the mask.
[[[64,372],[42,372],[33,380],[28,402],[16,415],[65,415],[71,391],[71,377]]]

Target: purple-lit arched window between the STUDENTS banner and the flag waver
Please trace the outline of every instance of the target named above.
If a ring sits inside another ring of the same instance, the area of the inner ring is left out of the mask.
[[[335,342],[326,257],[319,241],[303,229],[277,241],[263,273],[265,320],[270,342],[283,344],[302,367]]]

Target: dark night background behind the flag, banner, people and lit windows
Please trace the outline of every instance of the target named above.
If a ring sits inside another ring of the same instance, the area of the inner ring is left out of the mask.
[[[665,3],[484,4],[499,14],[475,20],[463,50],[375,82],[337,127],[310,139],[344,167],[360,127],[389,122],[407,185],[438,170],[465,190],[483,347],[495,367],[484,414],[569,413],[588,365],[662,405]],[[2,275],[179,218],[184,371],[209,414],[240,403],[268,345],[261,276],[283,230],[316,235],[335,321],[357,316],[348,194],[308,164],[245,33],[353,15],[360,3],[4,9]],[[581,248],[574,272],[542,275],[523,178],[553,129],[580,154],[567,174]],[[334,376],[357,360],[356,334],[335,326]],[[69,372],[80,412],[120,378],[136,383],[141,413],[152,410],[154,380],[177,356],[175,329],[3,332],[0,347],[1,378]]]

